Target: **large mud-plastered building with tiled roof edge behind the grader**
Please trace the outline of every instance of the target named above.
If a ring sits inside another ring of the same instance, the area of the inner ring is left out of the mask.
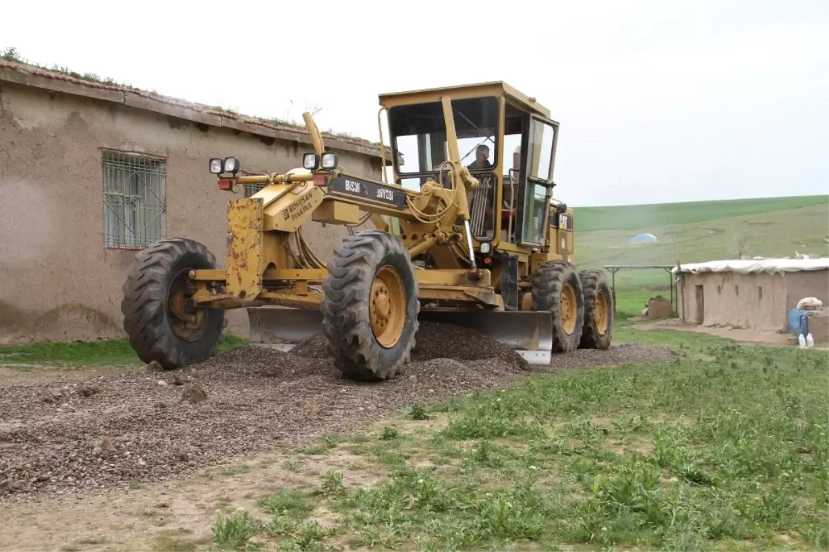
[[[377,144],[326,138],[350,172],[381,177]],[[287,171],[308,151],[303,128],[0,60],[0,344],[122,337],[121,285],[138,249],[185,236],[222,262],[234,195],[217,189],[208,159]],[[322,259],[346,235],[303,231]],[[229,320],[245,335],[244,312]]]

